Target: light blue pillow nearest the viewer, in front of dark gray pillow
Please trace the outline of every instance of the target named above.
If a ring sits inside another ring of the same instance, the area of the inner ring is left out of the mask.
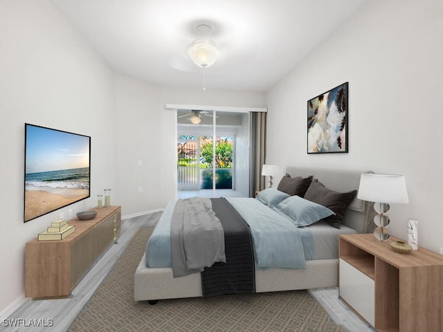
[[[312,225],[320,219],[335,214],[325,206],[302,199],[299,196],[290,196],[280,202],[274,210],[283,216],[289,217],[297,227]]]

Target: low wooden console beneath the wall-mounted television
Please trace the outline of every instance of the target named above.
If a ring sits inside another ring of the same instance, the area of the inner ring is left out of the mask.
[[[120,237],[121,208],[91,209],[96,218],[69,220],[75,232],[60,241],[33,239],[25,247],[25,297],[66,297],[96,259]]]

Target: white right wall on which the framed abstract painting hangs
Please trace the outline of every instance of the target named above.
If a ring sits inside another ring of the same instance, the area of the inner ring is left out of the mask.
[[[391,207],[405,239],[443,246],[443,5],[372,0],[268,93],[266,163],[404,174],[410,203]],[[307,100],[349,82],[349,153],[307,154]]]

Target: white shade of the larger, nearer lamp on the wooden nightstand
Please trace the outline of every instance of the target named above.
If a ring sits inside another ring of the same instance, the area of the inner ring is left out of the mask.
[[[357,198],[376,203],[409,203],[404,176],[394,174],[361,174]]]

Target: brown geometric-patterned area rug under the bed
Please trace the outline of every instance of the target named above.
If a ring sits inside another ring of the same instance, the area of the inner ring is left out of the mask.
[[[342,331],[307,291],[134,301],[134,273],[152,226],[143,226],[68,331]]]

